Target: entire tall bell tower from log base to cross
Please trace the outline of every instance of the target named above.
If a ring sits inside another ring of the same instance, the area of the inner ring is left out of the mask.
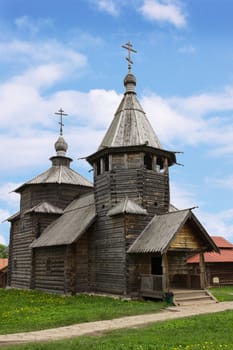
[[[124,46],[125,93],[97,152],[87,161],[94,168],[97,212],[91,289],[128,295],[137,289],[137,280],[127,250],[154,215],[168,212],[169,167],[176,157],[162,148],[137,99],[130,58],[135,50],[130,43]]]

